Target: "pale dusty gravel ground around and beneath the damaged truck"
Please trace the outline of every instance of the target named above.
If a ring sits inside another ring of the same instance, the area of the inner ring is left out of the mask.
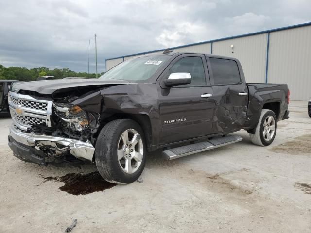
[[[173,161],[148,156],[140,182],[72,195],[61,177],[94,166],[22,162],[7,146],[0,119],[0,232],[311,232],[311,118],[292,101],[268,147],[243,141]],[[46,177],[50,177],[45,179]],[[58,180],[56,180],[58,179]],[[92,180],[88,180],[92,182]]]

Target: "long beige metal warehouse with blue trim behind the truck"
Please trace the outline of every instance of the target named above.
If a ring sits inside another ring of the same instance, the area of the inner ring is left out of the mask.
[[[238,58],[247,83],[287,83],[291,100],[311,97],[311,22],[170,48]],[[154,50],[106,59],[106,70]]]

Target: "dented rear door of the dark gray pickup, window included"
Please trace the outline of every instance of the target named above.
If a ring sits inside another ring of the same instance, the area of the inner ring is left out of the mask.
[[[241,64],[235,59],[207,57],[216,112],[215,133],[231,133],[242,128],[246,120],[248,89]]]

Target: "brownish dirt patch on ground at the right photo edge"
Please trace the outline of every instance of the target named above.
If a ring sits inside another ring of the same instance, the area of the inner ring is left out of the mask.
[[[311,134],[295,137],[294,140],[272,147],[269,151],[287,154],[311,154]]]

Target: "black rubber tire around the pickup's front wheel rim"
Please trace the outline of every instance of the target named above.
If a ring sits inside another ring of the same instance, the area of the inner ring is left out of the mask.
[[[122,133],[129,129],[134,129],[140,134],[143,144],[141,164],[132,174],[126,173],[121,168],[117,152]],[[147,150],[143,131],[138,123],[131,119],[118,119],[108,122],[101,130],[95,145],[95,163],[97,169],[104,180],[110,183],[126,184],[136,181],[144,169],[146,154]]]

